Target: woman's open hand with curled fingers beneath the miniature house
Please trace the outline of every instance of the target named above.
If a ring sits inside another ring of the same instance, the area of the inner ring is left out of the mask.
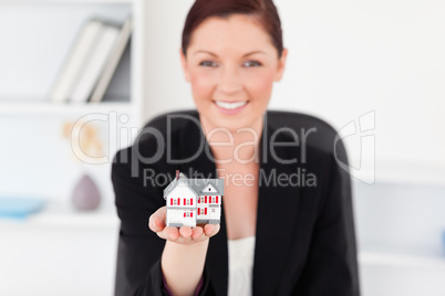
[[[167,228],[165,224],[166,213],[167,207],[159,208],[149,216],[148,226],[159,237],[170,242],[185,245],[204,242],[217,234],[220,229],[219,224],[206,224],[204,228],[197,225],[193,229],[189,226]]]

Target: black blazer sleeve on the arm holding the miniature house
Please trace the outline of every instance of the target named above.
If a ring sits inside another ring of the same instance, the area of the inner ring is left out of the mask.
[[[132,148],[117,151],[112,165],[111,178],[121,220],[114,295],[168,296],[161,268],[165,240],[148,228],[152,213],[165,205],[163,189],[151,181],[144,182],[144,169],[157,169],[155,166],[138,168],[141,163],[133,154]],[[209,295],[210,290],[205,267],[197,295]]]

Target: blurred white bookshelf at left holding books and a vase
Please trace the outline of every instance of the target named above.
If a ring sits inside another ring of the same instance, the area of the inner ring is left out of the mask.
[[[139,128],[145,120],[146,2],[0,0],[0,34],[6,44],[0,52],[0,137],[6,144],[0,148],[0,195],[48,200],[41,212],[27,220],[0,220],[2,239],[10,242],[0,246],[1,295],[113,294],[118,219],[111,159],[135,137],[134,133],[123,136],[122,130]],[[130,44],[104,99],[51,102],[50,88],[82,23],[92,17],[123,23],[128,15],[133,19]],[[108,161],[76,160],[63,126],[85,115],[112,113],[128,120],[118,121],[114,131],[110,120],[93,123]],[[101,192],[101,205],[92,212],[76,211],[71,202],[83,173]],[[32,278],[30,285],[20,284],[23,277]]]

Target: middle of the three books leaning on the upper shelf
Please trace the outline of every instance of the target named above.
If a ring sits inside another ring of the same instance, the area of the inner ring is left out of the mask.
[[[108,61],[112,50],[117,41],[120,29],[103,23],[103,30],[97,36],[97,43],[91,50],[77,82],[70,95],[70,102],[87,102],[99,77]]]

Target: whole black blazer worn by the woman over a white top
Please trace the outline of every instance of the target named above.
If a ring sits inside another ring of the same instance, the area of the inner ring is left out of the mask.
[[[266,115],[260,138],[262,179],[253,295],[358,296],[351,181],[337,161],[348,163],[343,144],[335,141],[337,133],[330,125],[315,117],[284,112]],[[115,295],[167,295],[161,269],[165,241],[148,229],[147,222],[154,211],[165,205],[163,189],[169,183],[163,180],[165,173],[173,177],[179,169],[188,177],[198,172],[217,178],[211,151],[198,124],[195,110],[158,116],[145,126],[132,147],[114,157],[112,181],[121,219]],[[273,147],[269,145],[271,140],[276,142]],[[172,163],[166,152],[173,160],[192,159]],[[280,159],[297,162],[283,165]],[[200,295],[225,296],[227,284],[227,232],[221,207],[220,231],[209,242]]]

